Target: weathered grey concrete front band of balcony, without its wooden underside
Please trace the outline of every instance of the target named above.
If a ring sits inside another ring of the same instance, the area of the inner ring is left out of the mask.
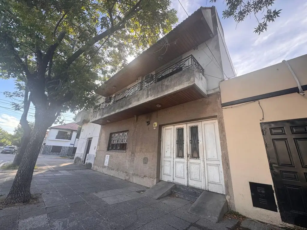
[[[94,112],[90,121],[92,122],[121,112],[125,109],[141,105],[145,102],[162,98],[168,94],[173,94],[191,86],[197,87],[202,94],[207,94],[207,80],[194,66],[186,68],[183,71],[128,96],[127,98],[123,98],[112,105],[108,105],[105,108]]]

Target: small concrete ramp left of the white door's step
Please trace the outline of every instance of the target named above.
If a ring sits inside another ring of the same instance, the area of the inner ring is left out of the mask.
[[[166,182],[166,181],[160,181],[159,183],[152,186],[150,189],[148,189],[144,195],[146,197],[150,197],[153,199],[159,199],[162,197],[166,197],[167,195],[172,193],[172,189],[176,187],[175,184]]]

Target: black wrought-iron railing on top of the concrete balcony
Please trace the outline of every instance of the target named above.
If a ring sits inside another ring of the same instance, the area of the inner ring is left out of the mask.
[[[130,88],[120,92],[119,94],[116,94],[113,98],[104,101],[103,103],[96,105],[94,107],[94,112],[98,111],[99,109],[102,109],[108,105],[114,104],[115,102],[126,98],[142,89],[145,89],[148,86],[151,86],[152,84],[159,82],[165,78],[168,78],[190,66],[195,66],[196,69],[204,75],[204,68],[198,63],[198,61],[195,59],[195,57],[191,54],[190,56],[187,56],[184,59],[181,59],[180,61],[173,63],[171,65],[166,66],[162,70],[160,70],[155,75],[151,75],[148,79],[145,79],[139,83],[137,83],[134,86],[131,86]]]

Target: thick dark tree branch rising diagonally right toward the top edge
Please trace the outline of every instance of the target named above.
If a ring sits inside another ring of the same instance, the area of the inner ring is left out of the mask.
[[[91,39],[89,39],[87,41],[87,43],[85,44],[85,46],[83,48],[80,48],[79,50],[77,50],[76,52],[74,52],[72,54],[72,56],[70,56],[67,61],[66,61],[66,68],[68,68],[81,54],[83,54],[86,50],[85,47],[87,46],[91,46],[93,44],[95,44],[96,42],[102,40],[103,38],[109,36],[110,34],[113,34],[115,31],[124,28],[126,20],[134,13],[137,11],[138,7],[140,6],[142,0],[139,0],[130,10],[129,12],[126,14],[126,16],[113,28],[110,28],[106,31],[104,31],[101,34],[98,34],[97,36],[92,37]]]

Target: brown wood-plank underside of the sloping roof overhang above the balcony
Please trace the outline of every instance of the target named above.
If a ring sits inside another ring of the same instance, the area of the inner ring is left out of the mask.
[[[201,18],[203,17],[202,10],[212,10],[213,8],[213,6],[200,7],[167,35],[108,79],[96,90],[96,93],[105,97],[110,96],[135,82],[138,77],[145,76],[211,38],[210,32],[204,29],[205,22]],[[166,48],[161,48],[165,44],[165,40],[168,41],[169,45]]]

